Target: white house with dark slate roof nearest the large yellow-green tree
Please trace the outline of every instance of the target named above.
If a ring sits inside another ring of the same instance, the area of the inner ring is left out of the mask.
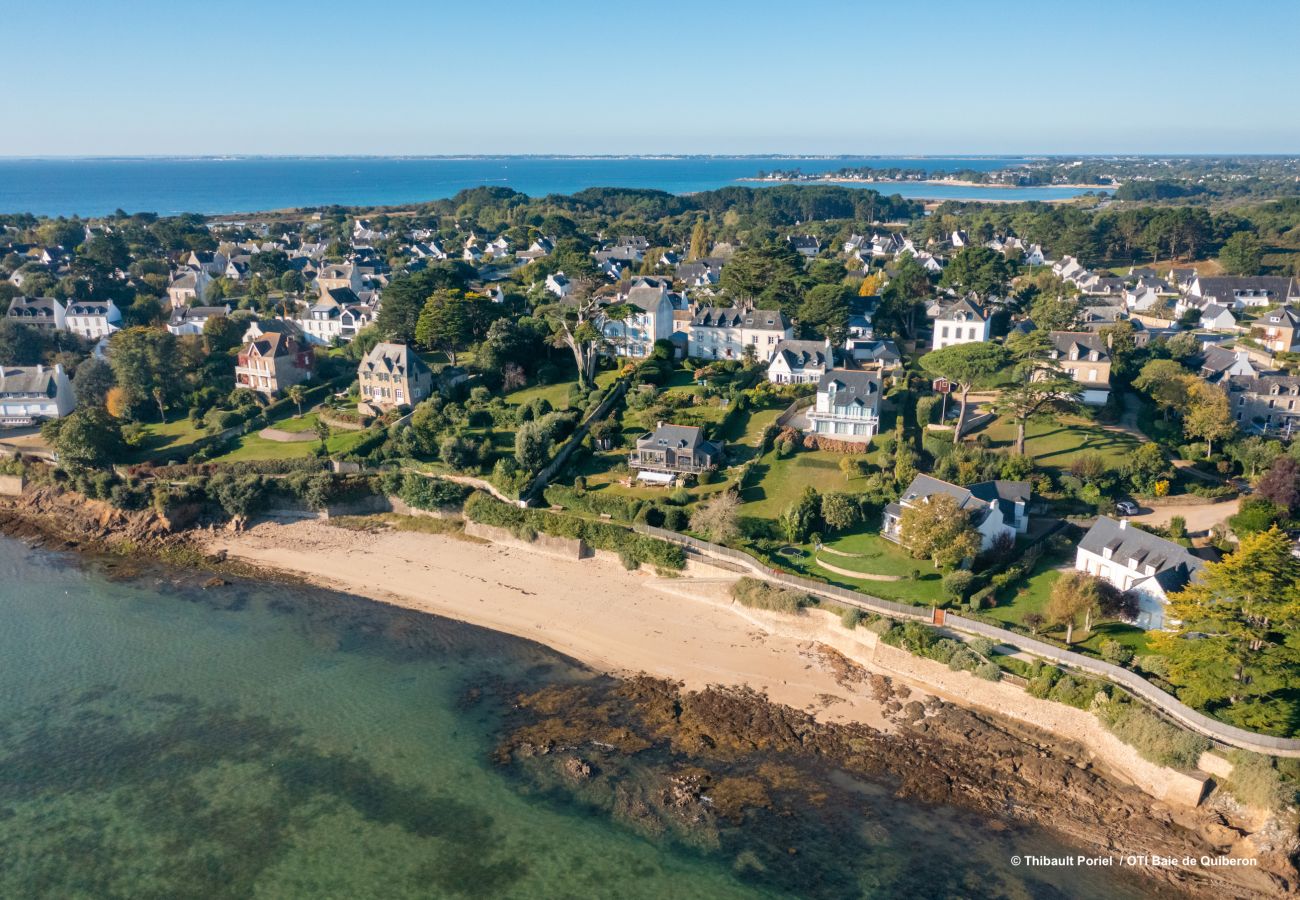
[[[1147,629],[1165,627],[1169,594],[1186,588],[1204,564],[1187,548],[1108,516],[1100,516],[1083,536],[1074,561],[1080,572],[1135,594],[1135,624]]]

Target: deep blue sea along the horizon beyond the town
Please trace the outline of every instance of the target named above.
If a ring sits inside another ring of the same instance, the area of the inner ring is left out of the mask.
[[[777,159],[777,157],[235,157],[235,159],[0,159],[0,213],[98,216],[114,209],[224,213],[304,205],[386,205],[452,196],[481,185],[530,196],[585,187],[650,187],[673,194],[712,190],[759,172],[806,173],[844,166],[987,172],[1017,157]],[[918,199],[1053,200],[1069,187],[962,187],[879,185]]]

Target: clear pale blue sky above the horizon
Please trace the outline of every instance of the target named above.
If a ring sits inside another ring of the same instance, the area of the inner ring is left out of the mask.
[[[4,0],[0,155],[1300,152],[1295,0]]]

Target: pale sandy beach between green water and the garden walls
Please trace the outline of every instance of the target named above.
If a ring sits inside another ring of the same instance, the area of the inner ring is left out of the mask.
[[[606,559],[566,561],[419,532],[356,532],[322,522],[217,532],[208,551],[321,587],[546,644],[611,674],[748,685],[770,700],[889,730],[866,684],[838,683],[814,640],[775,633],[731,602],[734,576],[659,579]],[[829,619],[829,616],[823,616]],[[838,626],[836,626],[838,627]]]

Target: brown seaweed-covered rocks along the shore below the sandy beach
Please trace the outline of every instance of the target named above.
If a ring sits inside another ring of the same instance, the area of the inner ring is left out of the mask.
[[[697,847],[722,841],[777,880],[819,852],[816,841],[789,838],[793,823],[829,828],[827,840],[849,856],[844,835],[866,834],[840,818],[862,815],[863,804],[833,773],[888,786],[894,797],[976,812],[997,822],[991,831],[1015,827],[1009,821],[1043,826],[1096,853],[1199,858],[1248,849],[1240,823],[1208,810],[1171,815],[1104,778],[1082,748],[939,700],[900,702],[901,691],[881,676],[863,687],[896,708],[896,732],[819,722],[742,688],[686,692],[647,676],[549,687],[516,696],[497,760],[644,834]],[[1275,896],[1296,883],[1284,854],[1249,869],[1145,874],[1200,896]]]

